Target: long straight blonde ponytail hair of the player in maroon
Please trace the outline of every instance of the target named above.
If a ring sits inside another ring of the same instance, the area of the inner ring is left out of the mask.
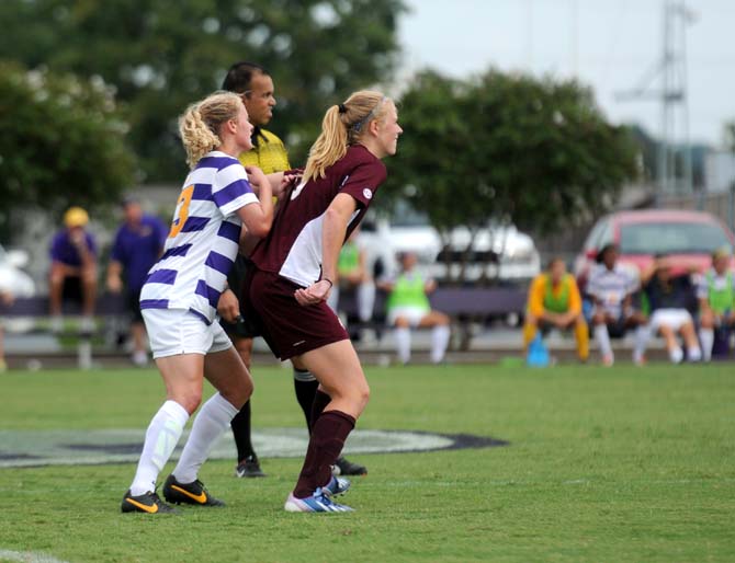
[[[325,176],[325,170],[347,153],[350,145],[358,142],[373,119],[385,114],[389,99],[381,92],[361,90],[343,103],[332,105],[321,122],[321,134],[309,150],[304,182]]]

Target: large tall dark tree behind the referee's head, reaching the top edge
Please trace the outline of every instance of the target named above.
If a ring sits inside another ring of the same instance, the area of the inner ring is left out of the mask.
[[[176,118],[238,60],[263,65],[301,162],[327,105],[387,80],[402,0],[2,0],[0,58],[101,76],[129,110],[146,181],[184,171]]]

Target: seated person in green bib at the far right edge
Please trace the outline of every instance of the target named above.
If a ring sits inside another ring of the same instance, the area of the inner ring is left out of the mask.
[[[730,269],[732,253],[728,248],[712,253],[712,267],[702,276],[697,290],[699,299],[699,340],[702,358],[710,361],[715,330],[735,325],[735,279]]]

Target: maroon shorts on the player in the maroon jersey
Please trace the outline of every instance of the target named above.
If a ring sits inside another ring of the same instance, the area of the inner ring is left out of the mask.
[[[294,291],[299,287],[278,274],[255,267],[246,277],[244,312],[258,320],[263,338],[281,359],[350,337],[325,301],[298,305]]]

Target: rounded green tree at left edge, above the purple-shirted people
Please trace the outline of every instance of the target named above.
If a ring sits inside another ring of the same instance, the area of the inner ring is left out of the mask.
[[[0,62],[0,130],[3,239],[21,225],[24,206],[58,211],[110,202],[133,181],[127,126],[99,77]]]

